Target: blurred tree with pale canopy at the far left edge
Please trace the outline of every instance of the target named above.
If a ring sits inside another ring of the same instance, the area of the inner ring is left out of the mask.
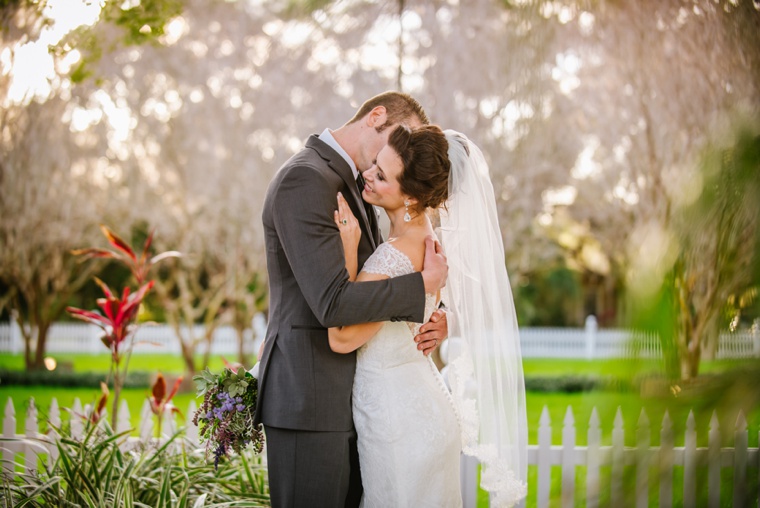
[[[55,121],[64,107],[56,98],[8,105],[2,113],[0,279],[24,338],[27,369],[43,367],[50,326],[94,272],[69,251],[93,237],[101,189],[70,174],[70,140]]]

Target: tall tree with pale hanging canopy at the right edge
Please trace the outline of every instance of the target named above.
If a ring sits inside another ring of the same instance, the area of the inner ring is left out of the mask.
[[[718,234],[745,224],[726,200],[707,207],[700,226],[684,228],[682,210],[707,178],[699,162],[706,148],[723,142],[737,119],[757,115],[760,12],[749,2],[628,2],[594,11],[593,20],[585,36],[593,45],[578,46],[590,65],[577,93],[580,118],[596,125],[596,164],[570,213],[591,225],[604,251],[628,244],[611,259],[630,291],[655,298],[662,277],[679,288],[672,296],[680,324],[661,338],[680,377],[691,379],[703,353],[717,349],[718,317],[743,284],[748,254]],[[714,185],[736,193],[730,172],[722,176]],[[600,196],[609,206],[599,206]],[[715,236],[706,234],[716,225]]]

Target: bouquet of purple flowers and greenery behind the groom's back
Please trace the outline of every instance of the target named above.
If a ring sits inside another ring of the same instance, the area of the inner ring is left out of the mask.
[[[222,457],[232,452],[240,454],[252,449],[261,453],[264,448],[264,432],[261,425],[254,425],[258,380],[243,367],[237,372],[225,368],[221,374],[204,370],[193,377],[198,389],[197,396],[203,397],[200,407],[193,416],[198,426],[201,442],[214,454],[214,467]]]

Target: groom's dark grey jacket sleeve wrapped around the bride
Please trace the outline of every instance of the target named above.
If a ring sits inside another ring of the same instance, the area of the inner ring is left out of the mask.
[[[287,171],[273,199],[275,227],[298,286],[322,326],[422,322],[422,275],[349,282],[343,243],[333,218],[338,189],[313,168]],[[358,211],[354,214],[358,216]]]

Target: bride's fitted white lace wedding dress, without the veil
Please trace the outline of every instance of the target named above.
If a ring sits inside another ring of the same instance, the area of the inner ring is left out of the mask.
[[[383,243],[362,270],[398,277],[414,268]],[[425,320],[435,308],[428,295]],[[357,351],[353,413],[364,508],[462,506],[459,422],[438,369],[413,340],[419,327],[386,322]]]

